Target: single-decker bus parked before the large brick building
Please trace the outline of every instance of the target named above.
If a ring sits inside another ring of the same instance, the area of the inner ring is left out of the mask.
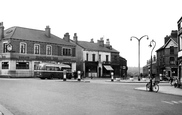
[[[66,78],[72,78],[71,67],[66,64],[40,63],[38,70],[35,71],[35,77],[40,79],[63,79],[63,73],[66,72]]]

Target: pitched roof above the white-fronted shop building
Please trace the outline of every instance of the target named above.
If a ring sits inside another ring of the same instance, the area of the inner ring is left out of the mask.
[[[104,52],[115,52],[119,53],[119,51],[115,50],[114,48],[109,49],[104,45],[103,47],[99,45],[99,43],[91,43],[87,41],[78,41],[78,45],[82,48],[91,50],[91,51],[104,51]]]

